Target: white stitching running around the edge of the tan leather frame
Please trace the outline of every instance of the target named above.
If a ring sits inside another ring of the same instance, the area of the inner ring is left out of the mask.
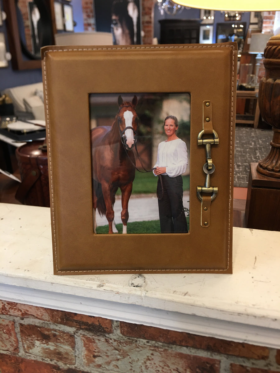
[[[47,100],[47,80],[46,80],[46,54],[48,52],[67,52],[67,51],[93,51],[93,50],[124,50],[124,49],[170,49],[170,48],[221,48],[221,47],[230,47],[233,51],[233,46],[229,45],[222,45],[222,46],[141,46],[141,47],[119,47],[119,48],[69,48],[69,49],[53,49],[47,50],[44,52],[44,81],[45,81],[45,91],[46,91],[46,109],[47,109],[47,132],[48,132],[48,139],[49,139],[49,150],[50,150],[50,136],[49,136],[49,107],[48,107],[48,100]],[[57,253],[56,253],[56,233],[55,233],[55,216],[54,216],[54,202],[53,202],[53,181],[52,181],[52,160],[51,154],[49,154],[49,163],[50,163],[50,181],[51,181],[51,195],[52,195],[52,218],[53,218],[53,234],[54,234],[54,244],[55,244],[55,261],[56,261],[56,271],[58,273],[76,273],[76,272],[225,272],[228,270],[229,267],[229,253],[230,253],[230,203],[231,203],[231,166],[232,166],[232,131],[233,131],[233,78],[234,78],[234,62],[235,56],[233,51],[233,59],[232,59],[232,86],[231,86],[231,129],[230,129],[230,202],[229,202],[229,222],[228,222],[228,251],[227,251],[227,268],[226,269],[130,269],[130,270],[121,270],[121,269],[114,269],[114,270],[67,270],[67,271],[60,271],[57,269]],[[49,151],[50,153],[50,151]]]

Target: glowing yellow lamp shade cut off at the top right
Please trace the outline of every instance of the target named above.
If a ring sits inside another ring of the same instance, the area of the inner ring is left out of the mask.
[[[175,0],[176,3],[188,6],[191,8],[199,9],[210,9],[210,10],[232,10],[232,11],[243,11],[252,12],[259,11],[265,12],[268,10],[279,10],[280,4],[279,0],[266,0],[266,1],[256,1],[256,0],[246,0],[239,1],[238,3],[231,1],[225,3],[223,0]]]

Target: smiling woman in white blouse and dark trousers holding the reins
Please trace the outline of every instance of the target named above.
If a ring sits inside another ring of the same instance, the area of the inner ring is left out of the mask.
[[[164,120],[167,140],[158,145],[158,159],[154,167],[155,176],[161,175],[163,189],[158,180],[159,220],[161,233],[187,233],[187,220],[183,207],[183,179],[188,164],[187,146],[178,138],[178,119],[169,115]]]

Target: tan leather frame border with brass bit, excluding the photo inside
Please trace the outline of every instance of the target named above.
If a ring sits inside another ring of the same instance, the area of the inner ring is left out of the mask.
[[[49,46],[41,53],[54,273],[232,273],[236,43]],[[123,102],[140,109],[138,98],[148,94],[189,95],[190,230],[94,233],[91,130],[112,126]],[[109,120],[93,96],[114,96]]]

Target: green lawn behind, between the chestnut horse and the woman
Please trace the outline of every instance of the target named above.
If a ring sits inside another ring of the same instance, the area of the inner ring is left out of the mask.
[[[133,181],[132,194],[149,194],[156,192],[156,185],[158,178],[152,172],[139,172],[136,170],[135,179]],[[189,190],[190,178],[189,175],[183,176],[183,189]],[[116,192],[117,195],[121,194],[120,189]]]

